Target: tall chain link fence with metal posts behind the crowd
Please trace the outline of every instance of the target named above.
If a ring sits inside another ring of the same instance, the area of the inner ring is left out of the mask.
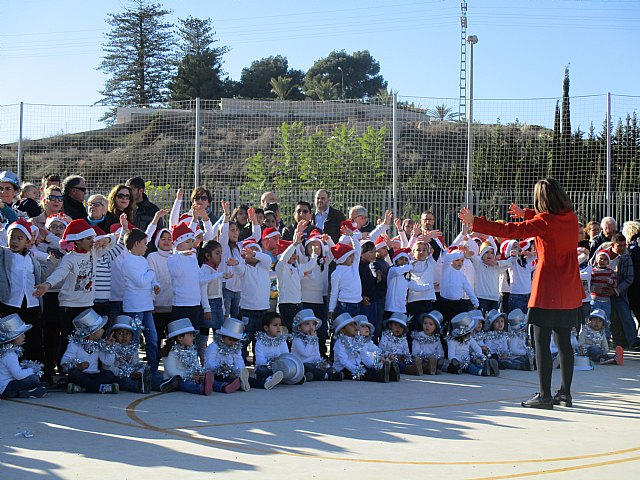
[[[414,219],[432,210],[452,235],[467,182],[467,123],[452,113],[457,101],[192,100],[118,108],[112,124],[101,121],[104,106],[4,105],[0,167],[35,183],[79,174],[91,193],[142,176],[163,206],[196,183],[232,205],[257,205],[275,190],[285,217],[326,188],[337,208],[361,204],[374,217],[388,208]],[[639,108],[634,96],[572,97],[569,125],[561,98],[476,100],[471,207],[506,218],[510,202],[530,205],[535,182],[554,176],[584,221],[640,217]]]

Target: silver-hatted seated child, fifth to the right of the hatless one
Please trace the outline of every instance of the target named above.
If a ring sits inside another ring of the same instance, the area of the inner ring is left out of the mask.
[[[422,371],[429,375],[436,375],[448,366],[444,357],[444,348],[440,338],[442,314],[437,310],[423,313],[419,317],[422,330],[411,335],[411,353],[422,359]]]

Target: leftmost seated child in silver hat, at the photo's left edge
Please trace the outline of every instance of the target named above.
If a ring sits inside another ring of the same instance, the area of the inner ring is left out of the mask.
[[[1,398],[42,398],[47,389],[40,384],[42,366],[37,362],[25,360],[22,345],[24,332],[31,325],[25,324],[17,313],[0,319],[0,397]]]

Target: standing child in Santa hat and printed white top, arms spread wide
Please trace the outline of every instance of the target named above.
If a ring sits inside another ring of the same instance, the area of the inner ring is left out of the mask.
[[[125,217],[126,219],[126,217]],[[73,319],[95,301],[97,259],[116,244],[113,235],[97,235],[84,219],[69,222],[62,234],[60,246],[72,248],[47,279],[38,285],[34,296],[41,297],[52,287],[60,286],[60,349],[63,353],[73,331]]]

